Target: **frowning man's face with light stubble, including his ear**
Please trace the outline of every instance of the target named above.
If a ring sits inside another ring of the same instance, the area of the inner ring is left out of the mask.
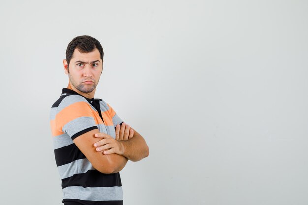
[[[97,49],[89,53],[81,53],[75,49],[65,73],[68,74],[69,81],[74,88],[80,92],[89,93],[96,88],[102,69],[103,62]]]

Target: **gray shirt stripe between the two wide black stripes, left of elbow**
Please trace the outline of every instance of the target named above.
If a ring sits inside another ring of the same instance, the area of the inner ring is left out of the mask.
[[[95,170],[88,159],[77,159],[69,164],[58,167],[61,179],[71,177],[75,174],[86,173],[89,170]]]

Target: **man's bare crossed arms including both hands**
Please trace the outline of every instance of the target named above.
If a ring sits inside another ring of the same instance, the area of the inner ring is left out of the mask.
[[[95,169],[106,174],[121,171],[128,160],[139,161],[149,155],[144,138],[125,123],[116,126],[116,139],[94,129],[75,138],[74,143]]]

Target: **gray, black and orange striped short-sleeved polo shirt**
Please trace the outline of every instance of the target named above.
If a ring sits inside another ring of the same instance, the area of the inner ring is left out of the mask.
[[[103,100],[63,88],[51,108],[50,125],[64,205],[123,205],[120,174],[96,170],[73,142],[93,129],[115,138],[114,128],[122,122]]]

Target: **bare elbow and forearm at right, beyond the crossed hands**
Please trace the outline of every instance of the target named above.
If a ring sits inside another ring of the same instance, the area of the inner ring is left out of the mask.
[[[149,147],[143,137],[134,130],[134,137],[120,141],[123,146],[123,156],[131,161],[139,161],[149,155]]]

